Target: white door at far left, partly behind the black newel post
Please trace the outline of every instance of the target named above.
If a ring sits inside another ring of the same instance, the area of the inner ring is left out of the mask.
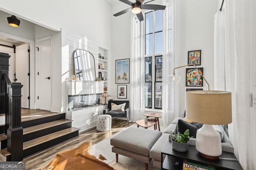
[[[16,47],[16,82],[23,84],[21,88],[21,107],[29,108],[29,44]]]

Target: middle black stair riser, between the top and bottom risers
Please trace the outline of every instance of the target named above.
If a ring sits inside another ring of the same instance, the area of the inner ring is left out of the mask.
[[[54,133],[54,132],[57,132],[57,131],[61,131],[63,129],[70,128],[71,125],[72,125],[72,122],[70,121],[70,122],[63,123],[63,124],[60,124],[60,125],[56,125],[56,126],[53,126],[53,127],[48,127],[46,129],[42,129],[40,131],[36,131],[36,132],[33,132],[33,133],[28,133],[26,135],[23,135],[23,142],[30,141],[30,140],[36,139],[38,137],[49,135],[50,133]]]

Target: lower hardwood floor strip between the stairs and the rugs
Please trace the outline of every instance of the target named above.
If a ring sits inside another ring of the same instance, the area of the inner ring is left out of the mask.
[[[129,123],[129,126],[133,123]],[[126,120],[112,119],[112,128],[108,132],[98,132],[96,127],[84,131],[79,134],[79,137],[66,141],[60,145],[56,145],[50,149],[44,150],[38,154],[34,154],[28,158],[25,158],[23,161],[26,162],[26,170],[40,170],[47,166],[56,156],[58,152],[64,150],[73,149],[78,147],[84,142],[92,142],[92,144],[99,143],[100,141],[114,135],[120,130],[127,127]]]

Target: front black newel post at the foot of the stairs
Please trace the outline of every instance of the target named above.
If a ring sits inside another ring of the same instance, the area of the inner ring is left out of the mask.
[[[7,150],[11,161],[23,160],[23,128],[21,127],[21,83],[10,83],[8,87],[9,128],[7,129]]]

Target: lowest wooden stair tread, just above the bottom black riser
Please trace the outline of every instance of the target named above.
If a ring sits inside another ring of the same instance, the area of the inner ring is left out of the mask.
[[[64,136],[64,135],[66,135],[68,133],[72,133],[72,132],[75,132],[75,131],[78,131],[78,130],[79,129],[76,128],[76,127],[70,127],[68,129],[64,129],[62,131],[51,133],[49,135],[45,135],[43,137],[39,137],[39,138],[33,139],[31,141],[24,142],[23,143],[23,150],[29,149],[29,148],[34,147],[36,145],[45,143],[45,142],[50,141],[52,139]]]

